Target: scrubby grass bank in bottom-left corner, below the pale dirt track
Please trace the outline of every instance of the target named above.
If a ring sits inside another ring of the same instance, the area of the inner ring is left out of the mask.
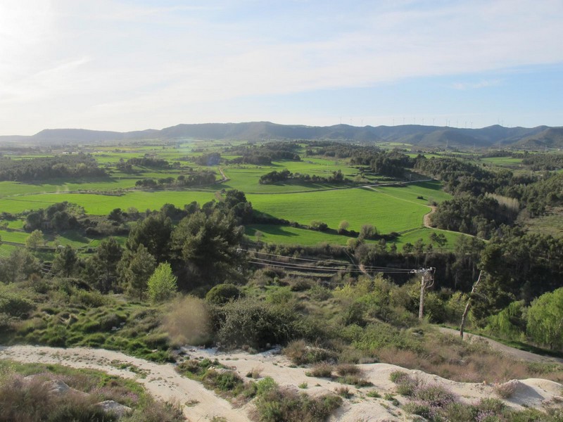
[[[69,392],[53,393],[64,383]],[[113,400],[132,411],[108,414],[96,403]],[[0,360],[0,421],[179,422],[179,407],[156,401],[138,383],[91,369]]]

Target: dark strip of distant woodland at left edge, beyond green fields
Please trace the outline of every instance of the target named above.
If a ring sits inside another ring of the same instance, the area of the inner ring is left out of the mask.
[[[0,180],[40,181],[65,177],[104,177],[106,170],[87,154],[56,155],[54,157],[0,159]]]

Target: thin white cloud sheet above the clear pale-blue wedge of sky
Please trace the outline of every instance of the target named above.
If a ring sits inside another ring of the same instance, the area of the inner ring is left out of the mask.
[[[89,127],[115,113],[132,124],[137,113],[155,127],[151,111],[181,115],[240,96],[563,61],[558,0],[154,4],[4,1],[0,113],[15,122],[44,110],[46,121]]]

